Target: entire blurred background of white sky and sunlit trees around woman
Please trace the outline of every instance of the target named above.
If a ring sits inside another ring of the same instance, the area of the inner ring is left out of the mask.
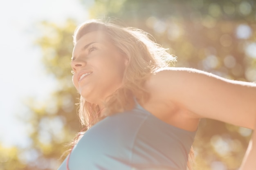
[[[152,34],[177,67],[256,82],[255,0],[1,1],[0,170],[56,170],[65,158],[81,129],[72,34],[102,16]],[[194,170],[238,170],[251,134],[202,119]]]

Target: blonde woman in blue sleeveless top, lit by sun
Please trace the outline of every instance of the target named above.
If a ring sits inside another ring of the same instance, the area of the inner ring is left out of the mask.
[[[173,61],[141,30],[81,24],[71,66],[88,130],[58,170],[186,170],[200,118],[255,129],[256,84]],[[240,170],[256,166],[255,143]]]

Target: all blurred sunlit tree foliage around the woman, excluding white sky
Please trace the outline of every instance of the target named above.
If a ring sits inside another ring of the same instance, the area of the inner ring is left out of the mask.
[[[151,33],[178,56],[177,66],[255,81],[255,7],[254,0],[95,0],[90,11],[92,18],[117,17],[127,26]],[[64,158],[59,159],[68,148],[65,145],[80,130],[75,106],[78,94],[70,73],[76,25],[73,20],[65,26],[40,24],[43,36],[36,44],[57,89],[43,103],[27,99],[31,114],[24,121],[31,125],[31,144],[20,150],[0,148],[0,170],[54,170]],[[237,169],[250,134],[245,128],[202,119],[194,143],[195,170]]]

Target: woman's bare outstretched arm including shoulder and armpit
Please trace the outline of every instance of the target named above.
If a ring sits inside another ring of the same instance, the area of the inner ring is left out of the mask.
[[[256,84],[231,81],[190,68],[166,68],[148,80],[148,102],[159,119],[194,131],[200,118],[254,129]]]

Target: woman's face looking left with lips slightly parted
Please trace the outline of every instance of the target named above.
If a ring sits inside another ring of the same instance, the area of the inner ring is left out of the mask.
[[[73,50],[74,86],[86,101],[101,104],[121,87],[125,58],[103,32],[83,35]]]

